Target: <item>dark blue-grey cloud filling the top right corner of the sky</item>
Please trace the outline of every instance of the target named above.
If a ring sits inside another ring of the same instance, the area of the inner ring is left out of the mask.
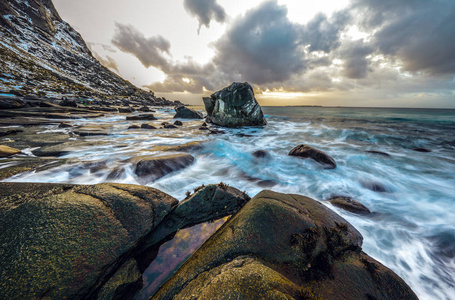
[[[378,30],[372,44],[407,71],[455,74],[455,1],[356,0],[359,24]]]

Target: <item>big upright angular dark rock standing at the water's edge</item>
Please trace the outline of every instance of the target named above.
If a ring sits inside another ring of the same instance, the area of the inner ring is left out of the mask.
[[[247,82],[234,82],[203,100],[208,122],[224,127],[267,125],[253,88]]]

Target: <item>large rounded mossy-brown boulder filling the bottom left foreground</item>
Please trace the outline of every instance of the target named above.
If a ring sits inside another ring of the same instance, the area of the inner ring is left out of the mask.
[[[137,288],[139,272],[116,275],[138,269],[128,253],[178,204],[123,184],[2,182],[0,199],[1,299],[96,299],[101,288]]]

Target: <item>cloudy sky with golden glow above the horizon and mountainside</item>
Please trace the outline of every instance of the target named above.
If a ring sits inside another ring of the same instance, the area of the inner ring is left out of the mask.
[[[158,96],[248,81],[262,105],[455,108],[453,0],[54,0],[105,66]]]

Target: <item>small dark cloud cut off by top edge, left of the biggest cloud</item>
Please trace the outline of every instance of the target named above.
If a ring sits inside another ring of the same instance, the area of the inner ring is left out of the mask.
[[[212,20],[219,23],[226,20],[226,12],[216,0],[184,0],[183,3],[186,11],[198,19],[198,33],[202,26],[209,28]]]

